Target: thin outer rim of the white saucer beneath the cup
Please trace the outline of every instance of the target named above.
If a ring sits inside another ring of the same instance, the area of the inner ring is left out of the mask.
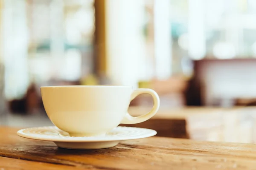
[[[143,139],[151,136],[155,136],[157,134],[156,130],[153,129],[148,129],[148,128],[141,128],[141,127],[127,127],[127,126],[117,126],[115,128],[130,128],[130,129],[143,129],[147,130],[148,133],[143,134],[143,135],[137,135],[137,136],[122,136],[122,137],[115,137],[113,139],[110,139],[111,137],[106,137],[105,136],[81,136],[81,137],[73,137],[73,136],[65,136],[62,138],[59,136],[52,137],[52,138],[45,138],[45,137],[36,137],[29,135],[27,133],[24,133],[24,130],[29,130],[29,129],[47,129],[47,128],[56,128],[56,126],[41,126],[41,127],[28,127],[28,128],[23,128],[17,131],[17,135],[26,139],[34,139],[34,140],[40,140],[40,141],[48,141],[48,142],[114,142],[114,141],[125,141],[125,140],[134,140],[134,139]],[[115,129],[114,128],[114,129]],[[58,129],[59,130],[59,129]],[[99,138],[99,139],[97,139]],[[104,139],[105,138],[105,139]]]

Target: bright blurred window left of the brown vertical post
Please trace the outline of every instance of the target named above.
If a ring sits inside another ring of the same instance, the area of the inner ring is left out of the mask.
[[[93,71],[93,4],[93,0],[2,1],[7,99],[23,97],[31,82],[77,81]]]

